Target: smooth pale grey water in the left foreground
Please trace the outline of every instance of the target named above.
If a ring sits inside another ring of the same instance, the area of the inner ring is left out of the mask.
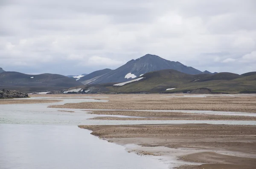
[[[132,162],[131,162],[132,161]],[[0,124],[1,169],[167,169],[76,126]]]

